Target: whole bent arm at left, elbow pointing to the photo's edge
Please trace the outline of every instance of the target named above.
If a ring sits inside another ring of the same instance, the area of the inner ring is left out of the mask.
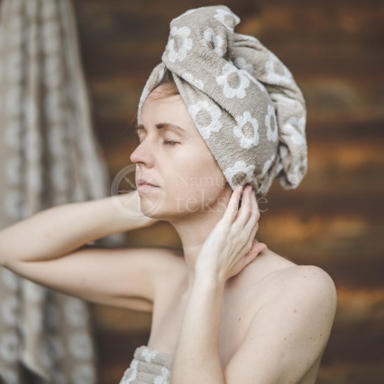
[[[136,191],[118,198],[130,212],[140,202]],[[177,256],[154,247],[82,246],[156,221],[142,216],[140,210],[134,216],[138,219],[126,216],[112,197],[46,209],[0,232],[0,263],[25,279],[67,295],[152,311],[157,281],[169,274]]]

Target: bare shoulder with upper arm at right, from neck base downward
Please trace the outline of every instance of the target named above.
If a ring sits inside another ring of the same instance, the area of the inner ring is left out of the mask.
[[[255,306],[246,307],[251,308],[246,335],[226,377],[314,383],[337,306],[332,278],[320,267],[297,265],[269,249],[249,266],[241,291],[251,288]]]

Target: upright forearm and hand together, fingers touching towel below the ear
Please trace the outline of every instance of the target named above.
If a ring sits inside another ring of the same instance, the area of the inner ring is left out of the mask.
[[[240,193],[241,189],[232,193],[223,218],[198,253],[195,279],[175,350],[171,384],[226,383],[219,354],[224,286],[227,279],[239,273],[266,247],[258,242],[252,245],[259,217],[256,198],[250,198],[251,189],[244,190],[242,207],[238,209]]]

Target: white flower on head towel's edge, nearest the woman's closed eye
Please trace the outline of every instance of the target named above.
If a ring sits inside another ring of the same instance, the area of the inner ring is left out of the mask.
[[[221,110],[220,108],[213,104],[208,103],[208,101],[198,101],[198,103],[195,103],[193,105],[190,105],[188,107],[189,115],[191,115],[193,121],[195,122],[196,127],[198,128],[198,131],[202,135],[202,138],[209,139],[209,136],[212,132],[219,132],[221,129]],[[198,118],[198,115],[202,112],[206,115],[209,115],[209,119],[211,120],[210,124],[202,124],[200,123],[200,119]]]

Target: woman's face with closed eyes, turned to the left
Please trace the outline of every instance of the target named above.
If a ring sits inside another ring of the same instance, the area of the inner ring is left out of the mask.
[[[158,98],[161,87],[142,107],[140,144],[131,154],[142,212],[163,220],[213,209],[223,212],[224,196],[232,190],[181,96]],[[140,179],[157,187],[140,186]]]

